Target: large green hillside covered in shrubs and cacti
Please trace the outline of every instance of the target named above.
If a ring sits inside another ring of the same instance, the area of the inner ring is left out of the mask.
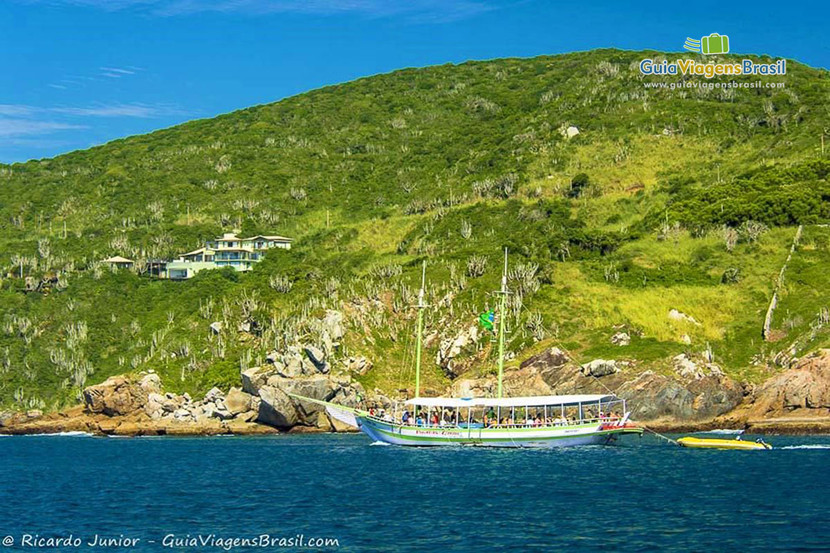
[[[145,368],[170,390],[236,385],[267,352],[315,342],[326,308],[346,317],[339,356],[374,363],[364,385],[411,386],[407,306],[422,260],[424,379],[440,390],[451,378],[434,362],[440,339],[493,303],[505,247],[513,362],[556,344],[662,371],[708,348],[757,381],[779,352],[827,346],[828,71],[789,61],[775,79],[785,88],[647,89],[663,78],[640,75],[644,56],[681,57],[602,50],[398,70],[0,165],[0,406],[65,405]],[[98,262],[169,258],[234,229],[294,247],[249,274],[185,282]],[[242,321],[258,332],[237,332]],[[629,346],[610,342],[620,331]],[[456,366],[491,371],[489,338]]]

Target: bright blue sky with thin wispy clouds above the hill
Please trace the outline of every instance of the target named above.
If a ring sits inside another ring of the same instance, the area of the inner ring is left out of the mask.
[[[0,162],[145,133],[401,67],[598,47],[830,67],[827,2],[2,0]]]

